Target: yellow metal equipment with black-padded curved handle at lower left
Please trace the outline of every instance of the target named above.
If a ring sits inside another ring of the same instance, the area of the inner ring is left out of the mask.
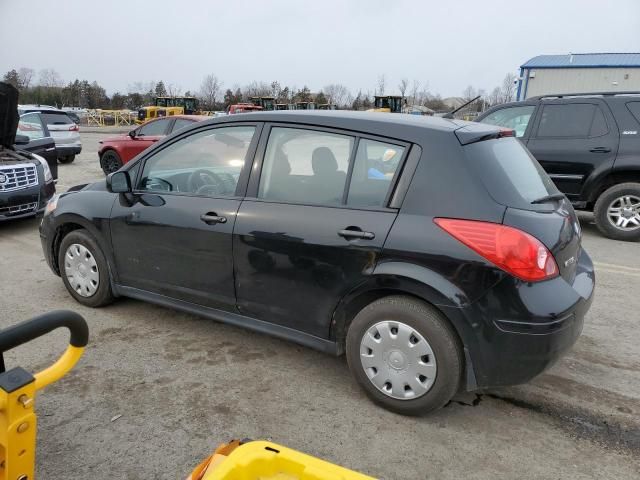
[[[31,375],[21,367],[5,371],[2,353],[56,328],[71,332],[69,346],[49,368]],[[82,356],[89,339],[84,319],[59,310],[0,332],[0,480],[32,480],[36,452],[36,392],[62,378]]]

